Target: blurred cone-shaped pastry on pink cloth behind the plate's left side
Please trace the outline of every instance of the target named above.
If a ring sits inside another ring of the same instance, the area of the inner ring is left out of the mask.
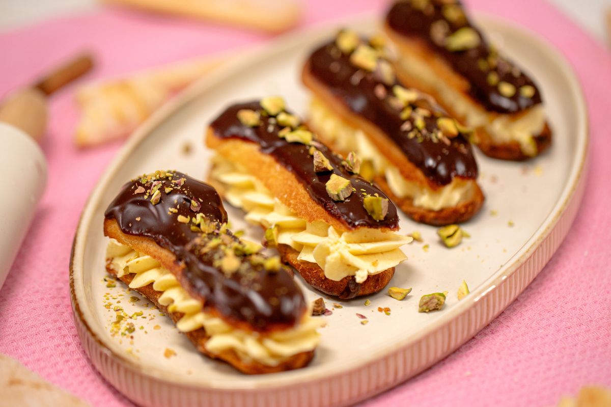
[[[181,62],[81,87],[76,93],[81,119],[75,144],[91,147],[125,138],[172,96],[224,60],[218,57]]]

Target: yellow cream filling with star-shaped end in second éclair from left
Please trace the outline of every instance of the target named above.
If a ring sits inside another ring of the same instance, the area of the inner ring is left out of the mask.
[[[298,260],[316,263],[334,281],[355,276],[364,282],[406,260],[401,249],[411,238],[373,228],[338,232],[324,222],[306,222],[269,193],[253,175],[214,158],[211,176],[225,186],[225,198],[246,211],[246,220],[278,228],[277,242],[299,252]]]

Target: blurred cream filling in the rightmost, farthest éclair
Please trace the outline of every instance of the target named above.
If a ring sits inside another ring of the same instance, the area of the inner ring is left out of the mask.
[[[517,118],[508,114],[500,114],[492,119],[486,112],[475,108],[469,97],[445,84],[444,81],[440,81],[419,56],[414,54],[400,58],[399,63],[406,75],[411,76],[428,89],[434,89],[439,101],[452,106],[459,117],[465,118],[467,126],[483,127],[495,143],[516,141],[525,155],[536,155],[537,149],[533,136],[541,134],[545,127],[543,104],[533,106]]]

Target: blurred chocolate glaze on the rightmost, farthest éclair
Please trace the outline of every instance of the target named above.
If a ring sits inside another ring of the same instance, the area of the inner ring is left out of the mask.
[[[399,1],[388,12],[386,23],[398,34],[418,37],[432,52],[444,57],[469,82],[474,100],[487,110],[511,114],[541,103],[541,94],[532,79],[489,45],[465,15],[460,1]],[[448,50],[447,37],[464,28],[477,32],[479,44],[463,51]],[[511,84],[514,94],[503,95],[500,82]],[[533,89],[521,92],[524,86]]]

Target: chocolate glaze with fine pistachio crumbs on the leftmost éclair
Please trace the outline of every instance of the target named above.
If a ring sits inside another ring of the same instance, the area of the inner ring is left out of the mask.
[[[205,309],[246,322],[255,331],[298,323],[307,309],[301,290],[284,268],[266,270],[265,258],[248,251],[227,230],[227,213],[216,190],[180,172],[167,174],[126,183],[106,210],[106,219],[116,219],[123,233],[150,238],[172,252],[185,265],[178,277],[181,285],[202,299]],[[153,204],[152,189],[159,184],[159,201]],[[173,189],[166,193],[166,188]],[[179,215],[190,220],[201,218],[198,214],[205,217],[205,232],[192,221],[178,221]],[[220,265],[228,254],[240,264],[232,273]]]

